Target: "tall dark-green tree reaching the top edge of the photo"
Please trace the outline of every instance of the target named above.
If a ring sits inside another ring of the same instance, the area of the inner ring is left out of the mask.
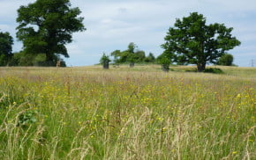
[[[69,0],[36,0],[20,6],[17,37],[23,41],[24,53],[45,54],[46,62],[53,65],[58,55],[69,57],[65,45],[72,42],[72,33],[86,30],[80,13]]]

